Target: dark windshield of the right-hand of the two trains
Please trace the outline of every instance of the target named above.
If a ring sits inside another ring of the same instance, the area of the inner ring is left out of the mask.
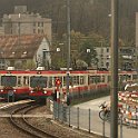
[[[30,77],[30,87],[34,88],[34,87],[41,87],[41,88],[46,88],[47,87],[47,77]]]

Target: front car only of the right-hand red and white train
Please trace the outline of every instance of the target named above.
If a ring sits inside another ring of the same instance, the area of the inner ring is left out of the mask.
[[[70,93],[82,91],[87,87],[88,71],[70,71]],[[66,93],[66,71],[33,71],[30,75],[30,98],[31,99],[46,99],[57,90],[56,79],[60,80],[59,91],[63,97]],[[81,86],[81,87],[80,87]],[[82,87],[83,86],[83,87]]]

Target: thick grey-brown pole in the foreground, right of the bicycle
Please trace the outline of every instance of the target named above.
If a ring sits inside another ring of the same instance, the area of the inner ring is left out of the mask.
[[[118,0],[111,0],[111,52],[110,138],[118,138]]]

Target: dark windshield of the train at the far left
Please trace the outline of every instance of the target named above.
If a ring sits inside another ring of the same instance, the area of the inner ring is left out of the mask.
[[[2,76],[1,77],[1,86],[17,86],[17,77],[16,76]]]

